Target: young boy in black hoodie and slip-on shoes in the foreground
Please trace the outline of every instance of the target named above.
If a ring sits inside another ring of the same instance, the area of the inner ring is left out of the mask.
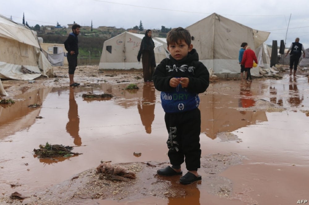
[[[161,176],[182,175],[185,161],[188,172],[180,177],[180,183],[191,184],[201,180],[200,168],[201,112],[198,109],[199,93],[209,85],[209,72],[198,61],[198,54],[191,44],[191,35],[184,28],[174,28],[167,33],[166,58],[153,74],[155,88],[161,91],[168,132],[167,147],[171,167],[159,169]]]

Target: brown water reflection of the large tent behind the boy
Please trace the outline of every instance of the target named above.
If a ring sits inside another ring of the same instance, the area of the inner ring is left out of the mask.
[[[258,121],[267,121],[264,111],[237,110],[237,98],[224,97],[222,94],[200,95],[200,98],[201,133],[211,139],[215,139],[220,132],[232,132]]]

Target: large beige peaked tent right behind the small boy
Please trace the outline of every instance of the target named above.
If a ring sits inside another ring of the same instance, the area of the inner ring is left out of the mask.
[[[241,43],[247,42],[251,49],[256,51],[270,34],[254,30],[216,13],[186,29],[191,33],[193,48],[197,50],[200,61],[208,69],[212,68],[214,74],[240,73],[238,55]],[[259,59],[258,61],[260,62]],[[259,69],[253,68],[251,74],[258,76]]]

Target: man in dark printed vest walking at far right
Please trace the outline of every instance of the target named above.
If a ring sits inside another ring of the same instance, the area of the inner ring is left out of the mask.
[[[299,62],[299,58],[302,55],[303,51],[303,57],[305,58],[305,49],[303,47],[303,44],[299,43],[299,38],[295,39],[295,42],[291,44],[288,52],[286,53],[286,56],[288,53],[291,51],[290,54],[290,76],[292,75],[292,69],[294,65],[294,76],[296,76],[296,70],[297,70],[297,65]]]

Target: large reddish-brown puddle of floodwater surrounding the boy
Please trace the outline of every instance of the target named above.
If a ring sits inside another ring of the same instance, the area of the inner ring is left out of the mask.
[[[96,167],[101,160],[168,161],[159,91],[151,83],[138,84],[138,90],[125,90],[127,85],[25,91],[15,97],[15,104],[0,106],[1,193],[27,195]],[[202,156],[231,152],[247,157],[219,174],[233,182],[232,197],[208,194],[203,178],[201,184],[186,188],[185,198],[147,197],[134,203],[296,204],[298,199],[309,199],[308,91],[307,77],[211,84],[200,94]],[[85,100],[81,95],[87,92],[115,97]],[[258,109],[259,99],[283,111]],[[28,108],[34,103],[41,106]],[[83,155],[54,160],[33,157],[33,149],[46,142],[74,146],[73,152]],[[98,203],[105,202],[116,204]]]

